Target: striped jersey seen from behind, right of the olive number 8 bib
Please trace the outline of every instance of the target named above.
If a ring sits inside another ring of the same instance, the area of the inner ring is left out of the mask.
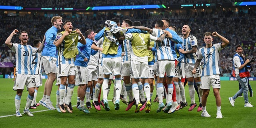
[[[153,28],[152,29],[152,35],[156,35],[157,37],[160,37],[164,32],[163,30]],[[171,40],[170,38],[164,38],[162,42],[156,42],[156,48],[157,48],[157,60],[175,60],[175,57],[171,46]]]

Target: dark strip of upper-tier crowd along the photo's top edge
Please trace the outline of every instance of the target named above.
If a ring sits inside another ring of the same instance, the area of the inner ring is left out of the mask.
[[[191,3],[226,3],[238,0],[2,0],[0,5],[22,7],[67,7],[85,8],[88,6],[127,6],[148,4],[191,4]],[[253,1],[253,0],[243,0]]]

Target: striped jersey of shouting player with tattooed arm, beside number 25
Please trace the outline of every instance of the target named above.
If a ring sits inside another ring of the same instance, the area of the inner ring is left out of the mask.
[[[183,48],[185,51],[189,51],[192,49],[192,46],[197,46],[197,39],[193,35],[189,35],[187,38],[183,39]],[[192,54],[184,54],[185,55],[185,63],[196,63],[197,52]]]

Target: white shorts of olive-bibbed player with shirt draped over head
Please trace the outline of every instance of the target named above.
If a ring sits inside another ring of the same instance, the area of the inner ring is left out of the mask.
[[[103,58],[102,61],[103,65],[103,72],[104,74],[114,74],[121,75],[121,69],[122,69],[122,61],[121,57],[117,58]]]

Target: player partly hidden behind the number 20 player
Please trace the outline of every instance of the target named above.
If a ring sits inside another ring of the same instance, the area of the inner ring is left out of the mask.
[[[41,44],[40,39],[36,39],[33,42],[34,47],[39,48]],[[36,88],[35,88],[35,93],[34,93],[34,98],[31,103],[30,108],[35,109],[37,106],[40,104],[36,102],[36,96],[37,96],[37,91],[40,86],[42,86],[42,74],[41,74],[41,66],[42,66],[42,60],[41,60],[41,52],[33,53],[32,54],[33,59],[32,59],[32,69],[33,69],[33,74],[35,75],[35,82],[36,82]]]

